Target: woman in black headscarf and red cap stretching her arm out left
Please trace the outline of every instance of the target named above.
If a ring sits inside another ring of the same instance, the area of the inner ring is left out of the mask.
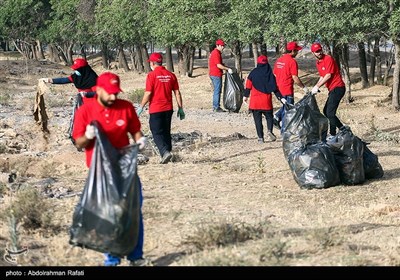
[[[97,80],[96,72],[90,67],[87,60],[84,58],[77,58],[71,66],[74,73],[68,77],[62,78],[41,78],[39,81],[50,84],[69,84],[73,83],[78,90],[74,104],[72,107],[72,117],[68,128],[68,136],[74,143],[72,138],[73,120],[76,110],[89,98],[95,94],[95,86]]]

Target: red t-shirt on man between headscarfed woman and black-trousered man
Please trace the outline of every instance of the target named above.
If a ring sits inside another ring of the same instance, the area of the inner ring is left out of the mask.
[[[276,77],[276,85],[283,96],[294,94],[292,76],[298,76],[298,73],[297,61],[290,54],[284,54],[276,60],[274,75]]]

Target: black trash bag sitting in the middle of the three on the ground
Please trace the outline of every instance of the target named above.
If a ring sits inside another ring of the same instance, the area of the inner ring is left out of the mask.
[[[335,156],[342,183],[345,185],[363,183],[365,181],[364,144],[360,138],[354,136],[349,127],[344,127],[326,143]]]

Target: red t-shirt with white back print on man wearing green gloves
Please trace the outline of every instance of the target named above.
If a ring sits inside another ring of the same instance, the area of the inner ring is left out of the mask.
[[[178,80],[174,73],[158,66],[146,78],[146,91],[150,91],[149,113],[170,111],[173,109],[172,92],[178,90]]]

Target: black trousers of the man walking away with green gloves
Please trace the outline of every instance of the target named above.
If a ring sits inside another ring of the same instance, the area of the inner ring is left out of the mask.
[[[150,130],[161,157],[171,152],[171,121],[173,110],[150,114]]]

